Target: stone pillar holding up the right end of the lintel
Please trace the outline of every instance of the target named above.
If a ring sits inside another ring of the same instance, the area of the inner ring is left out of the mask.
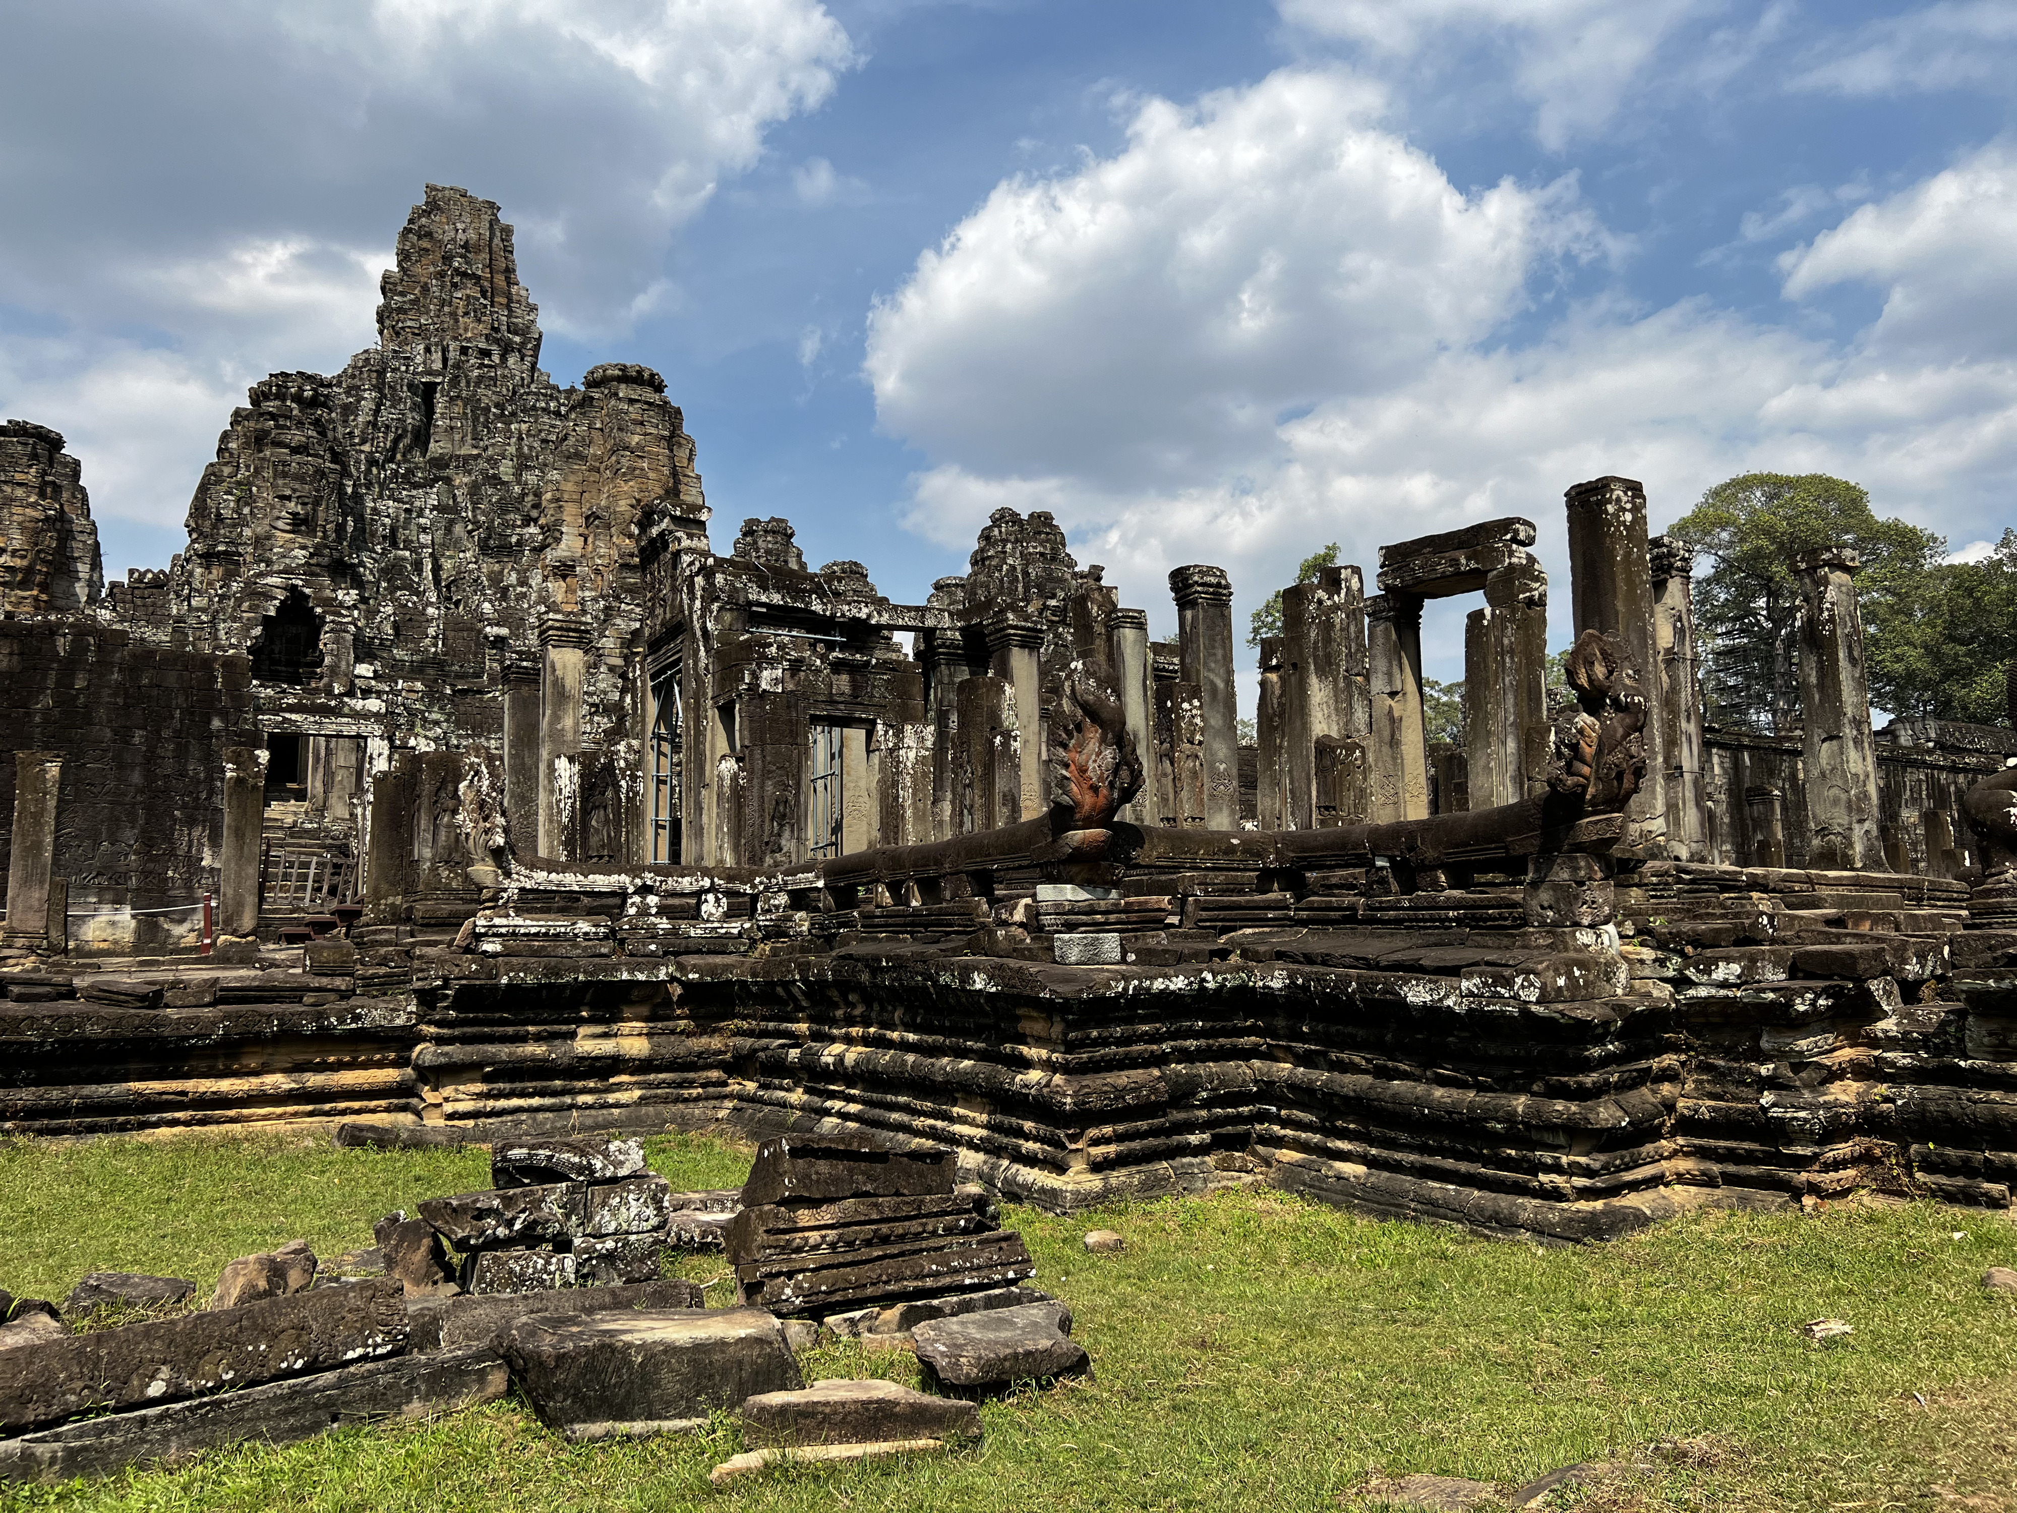
[[[1464,621],[1464,767],[1470,807],[1519,803],[1547,781],[1547,575],[1537,565],[1485,579]]]

